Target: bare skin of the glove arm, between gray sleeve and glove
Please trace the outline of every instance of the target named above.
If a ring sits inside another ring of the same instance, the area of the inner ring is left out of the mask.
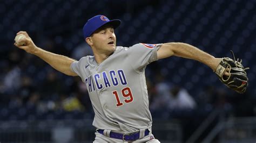
[[[221,61],[221,58],[214,58],[214,56],[201,51],[197,47],[182,42],[170,42],[163,44],[157,51],[158,59],[167,58],[172,55],[197,60],[210,67],[213,71],[216,70]]]

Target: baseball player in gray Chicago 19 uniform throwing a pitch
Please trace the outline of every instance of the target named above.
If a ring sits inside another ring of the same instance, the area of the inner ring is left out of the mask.
[[[232,67],[225,65],[223,58],[214,58],[181,42],[116,46],[114,30],[119,25],[120,20],[109,20],[103,15],[87,20],[83,34],[93,56],[84,56],[79,61],[44,51],[24,31],[17,33],[24,34],[25,38],[16,41],[15,46],[38,56],[66,75],[79,76],[86,84],[95,112],[94,142],[159,142],[151,130],[146,66],[175,55],[204,63],[221,78],[231,76]],[[246,73],[241,75],[246,76]],[[247,77],[238,78],[237,84],[241,83],[238,87],[245,90],[247,81]]]

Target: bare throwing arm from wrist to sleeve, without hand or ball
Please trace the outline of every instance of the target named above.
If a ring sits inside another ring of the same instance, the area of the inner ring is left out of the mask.
[[[51,53],[45,51],[42,48],[36,48],[35,51],[31,54],[34,54],[44,60],[45,62],[49,63],[53,68],[56,70],[70,76],[77,76],[76,73],[73,73],[70,69],[70,65],[72,62],[76,61],[64,55],[58,55],[55,53]]]

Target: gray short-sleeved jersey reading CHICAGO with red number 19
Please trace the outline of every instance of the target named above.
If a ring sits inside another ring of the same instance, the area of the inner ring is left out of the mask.
[[[121,132],[150,127],[152,117],[145,68],[157,60],[160,44],[117,46],[102,63],[85,56],[71,64],[86,84],[95,118],[93,126]]]

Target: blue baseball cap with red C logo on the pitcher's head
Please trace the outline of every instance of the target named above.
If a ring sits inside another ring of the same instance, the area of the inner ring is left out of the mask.
[[[91,19],[87,20],[87,22],[83,27],[84,38],[90,37],[91,34],[95,32],[99,27],[107,23],[111,24],[114,28],[117,28],[120,25],[121,20],[119,19],[109,20],[109,18],[103,15],[92,17]]]

